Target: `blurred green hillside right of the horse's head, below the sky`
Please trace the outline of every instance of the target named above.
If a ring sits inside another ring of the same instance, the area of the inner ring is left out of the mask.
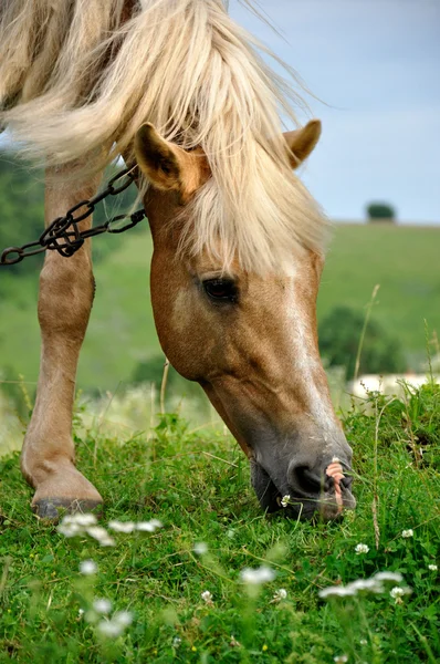
[[[371,317],[397,336],[409,360],[426,359],[425,319],[440,335],[440,227],[339,225],[318,297],[318,317],[344,304],[362,310],[380,284]],[[415,369],[415,366],[409,366]]]

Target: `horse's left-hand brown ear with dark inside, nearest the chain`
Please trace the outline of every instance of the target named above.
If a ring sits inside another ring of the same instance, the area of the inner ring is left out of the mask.
[[[151,185],[163,191],[177,191],[182,203],[209,177],[207,159],[200,149],[187,152],[166,141],[150,123],[137,132],[135,154]]]

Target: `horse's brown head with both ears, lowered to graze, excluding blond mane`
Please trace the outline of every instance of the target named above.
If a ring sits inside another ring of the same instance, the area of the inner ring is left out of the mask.
[[[308,156],[317,121],[285,134],[292,166]],[[301,250],[279,273],[224,268],[219,251],[184,249],[191,199],[209,184],[208,159],[144,125],[136,156],[150,183],[145,205],[154,237],[151,298],[164,352],[198,381],[250,458],[263,508],[326,519],[354,507],[352,450],[333,411],[316,333],[323,258]],[[216,256],[213,256],[216,253]]]

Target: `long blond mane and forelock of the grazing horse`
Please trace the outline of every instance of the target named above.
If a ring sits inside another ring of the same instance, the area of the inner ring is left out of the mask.
[[[280,269],[300,246],[321,252],[326,225],[287,164],[280,116],[295,121],[294,97],[226,4],[2,0],[0,125],[28,157],[84,173],[130,154],[146,121],[201,146],[212,178],[192,201],[191,249]]]

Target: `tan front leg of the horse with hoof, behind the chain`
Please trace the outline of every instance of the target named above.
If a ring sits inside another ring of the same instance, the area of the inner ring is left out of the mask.
[[[51,183],[50,170],[48,180]],[[78,187],[48,184],[45,222],[96,193],[99,177]],[[81,222],[85,229],[91,217]],[[71,258],[49,251],[40,278],[39,321],[42,335],[36,401],[21,455],[21,469],[35,488],[33,510],[56,519],[57,508],[90,511],[102,502],[95,487],[76,470],[72,408],[76,366],[94,295],[90,240]]]

